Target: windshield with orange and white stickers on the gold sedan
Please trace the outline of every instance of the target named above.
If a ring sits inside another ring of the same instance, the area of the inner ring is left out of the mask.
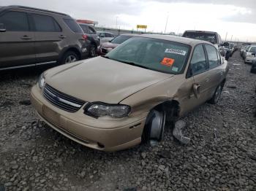
[[[133,37],[106,55],[114,61],[168,74],[181,74],[189,57],[190,46],[178,42]]]

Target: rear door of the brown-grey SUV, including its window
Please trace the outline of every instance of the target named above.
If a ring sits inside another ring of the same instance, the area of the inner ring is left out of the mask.
[[[59,52],[61,52],[61,44],[65,44],[67,36],[50,15],[31,13],[30,16],[34,21],[37,63],[57,61]]]

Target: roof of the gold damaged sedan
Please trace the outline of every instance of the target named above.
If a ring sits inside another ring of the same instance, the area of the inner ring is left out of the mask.
[[[179,42],[182,44],[189,44],[190,46],[195,46],[197,44],[211,44],[210,42],[197,40],[197,39],[189,39],[181,36],[173,36],[173,35],[163,35],[163,34],[143,34],[143,37],[153,38],[153,39],[162,39],[172,42]],[[211,44],[213,45],[213,44]]]

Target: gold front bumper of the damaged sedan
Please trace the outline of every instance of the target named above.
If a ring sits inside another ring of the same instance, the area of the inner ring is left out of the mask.
[[[83,114],[65,112],[50,104],[37,85],[31,90],[31,104],[39,117],[51,128],[86,147],[103,151],[127,149],[140,144],[146,113],[124,119],[95,119]]]

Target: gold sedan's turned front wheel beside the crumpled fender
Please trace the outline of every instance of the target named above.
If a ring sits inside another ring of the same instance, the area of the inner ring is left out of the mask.
[[[166,112],[153,109],[149,112],[143,130],[142,140],[145,144],[151,141],[161,141],[165,131]]]

